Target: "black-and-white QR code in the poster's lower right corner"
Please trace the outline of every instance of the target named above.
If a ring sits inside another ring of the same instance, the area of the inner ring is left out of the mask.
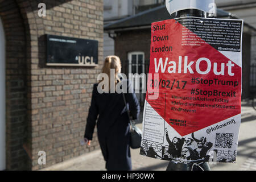
[[[233,144],[233,133],[216,133],[216,148],[231,148]]]

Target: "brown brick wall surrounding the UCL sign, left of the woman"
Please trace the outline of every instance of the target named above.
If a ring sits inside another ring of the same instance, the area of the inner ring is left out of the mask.
[[[91,147],[80,140],[103,63],[103,11],[103,0],[0,0],[0,169],[36,170],[99,148],[97,131]],[[46,66],[47,34],[97,40],[98,66]]]

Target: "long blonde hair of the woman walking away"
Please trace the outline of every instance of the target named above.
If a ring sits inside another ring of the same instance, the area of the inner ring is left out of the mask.
[[[105,57],[104,66],[102,68],[102,73],[106,73],[109,76],[109,89],[110,89],[110,70],[115,70],[115,85],[118,81],[120,81],[120,78],[118,77],[118,73],[121,72],[121,60],[118,56],[107,56]],[[103,81],[103,80],[101,80]],[[101,82],[100,81],[100,82]]]

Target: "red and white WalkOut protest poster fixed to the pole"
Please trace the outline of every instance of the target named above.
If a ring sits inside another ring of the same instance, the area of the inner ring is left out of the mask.
[[[243,20],[152,23],[140,154],[235,163],[241,124]]]

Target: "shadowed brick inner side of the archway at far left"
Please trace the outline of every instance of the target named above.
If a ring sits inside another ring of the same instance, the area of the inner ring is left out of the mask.
[[[28,125],[26,35],[14,0],[0,1],[0,18],[6,39],[6,168],[28,169],[28,157],[22,148]]]

